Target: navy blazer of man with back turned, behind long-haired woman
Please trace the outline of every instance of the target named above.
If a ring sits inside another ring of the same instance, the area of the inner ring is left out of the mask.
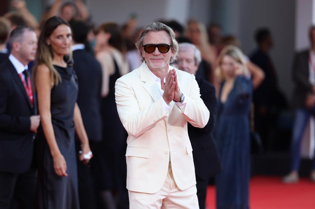
[[[102,118],[100,98],[102,69],[95,57],[85,50],[73,51],[73,69],[78,78],[77,104],[90,141],[102,139]]]

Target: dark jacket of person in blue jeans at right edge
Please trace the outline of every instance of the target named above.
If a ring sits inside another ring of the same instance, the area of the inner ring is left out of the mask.
[[[293,91],[293,106],[305,108],[307,94],[312,93],[312,85],[309,82],[309,51],[301,51],[295,55],[293,62],[292,78],[295,83]]]

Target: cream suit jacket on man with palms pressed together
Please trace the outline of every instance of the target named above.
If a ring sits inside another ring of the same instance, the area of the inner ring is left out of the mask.
[[[183,110],[173,101],[171,111],[163,109],[159,87],[146,62],[116,81],[117,111],[129,134],[126,151],[128,190],[156,193],[165,182],[169,160],[180,190],[196,184],[187,121],[202,128],[209,120],[209,110],[200,98],[195,77],[175,70],[179,88],[185,95]]]

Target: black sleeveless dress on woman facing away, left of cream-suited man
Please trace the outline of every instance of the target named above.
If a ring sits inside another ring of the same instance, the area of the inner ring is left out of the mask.
[[[109,93],[101,101],[103,119],[102,166],[100,172],[100,190],[119,190],[121,171],[126,167],[125,152],[127,147],[127,133],[119,119],[115,101],[115,83],[121,77],[119,68],[114,60],[115,72],[109,77]],[[126,171],[127,173],[127,171]],[[126,176],[127,178],[127,176]],[[124,179],[126,182],[126,179]],[[124,188],[126,185],[123,185]]]

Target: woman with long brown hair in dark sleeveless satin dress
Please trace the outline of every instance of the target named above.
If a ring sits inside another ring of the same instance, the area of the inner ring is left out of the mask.
[[[79,208],[77,160],[74,135],[77,132],[88,163],[89,141],[77,106],[77,81],[72,66],[64,61],[70,54],[72,33],[59,17],[48,19],[39,36],[37,63],[33,70],[41,124],[37,135],[37,208]]]

